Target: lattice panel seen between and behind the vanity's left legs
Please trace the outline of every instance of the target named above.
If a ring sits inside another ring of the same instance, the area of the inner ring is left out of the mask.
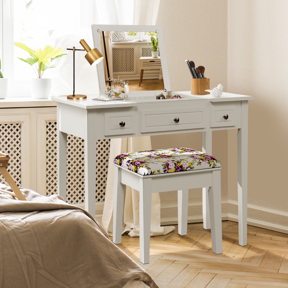
[[[97,141],[95,199],[105,199],[110,140]],[[67,202],[83,203],[85,196],[84,139],[67,135]],[[46,123],[46,194],[57,193],[57,123]]]

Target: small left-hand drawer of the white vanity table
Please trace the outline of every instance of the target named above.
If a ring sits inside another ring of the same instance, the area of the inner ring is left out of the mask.
[[[104,113],[104,135],[124,135],[136,132],[136,112]],[[122,126],[120,123],[122,122]]]

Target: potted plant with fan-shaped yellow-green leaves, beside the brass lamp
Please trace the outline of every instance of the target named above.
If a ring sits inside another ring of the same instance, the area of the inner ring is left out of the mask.
[[[56,48],[50,45],[46,45],[44,49],[31,49],[20,42],[14,42],[14,45],[25,50],[31,56],[27,59],[18,58],[31,65],[37,76],[37,78],[31,79],[30,82],[32,98],[47,99],[51,91],[51,78],[42,78],[43,73],[49,68],[56,67],[51,65],[51,62],[56,58],[67,55],[67,53],[63,53],[64,50],[60,47]]]

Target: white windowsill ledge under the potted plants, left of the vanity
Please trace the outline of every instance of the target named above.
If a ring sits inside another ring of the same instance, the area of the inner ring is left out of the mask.
[[[24,107],[53,107],[56,102],[48,99],[33,99],[31,97],[8,97],[0,99],[0,108],[24,108]]]

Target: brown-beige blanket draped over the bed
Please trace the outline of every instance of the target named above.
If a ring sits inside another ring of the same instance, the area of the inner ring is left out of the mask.
[[[21,191],[27,201],[0,192],[0,287],[122,288],[133,279],[158,287],[88,212]]]

